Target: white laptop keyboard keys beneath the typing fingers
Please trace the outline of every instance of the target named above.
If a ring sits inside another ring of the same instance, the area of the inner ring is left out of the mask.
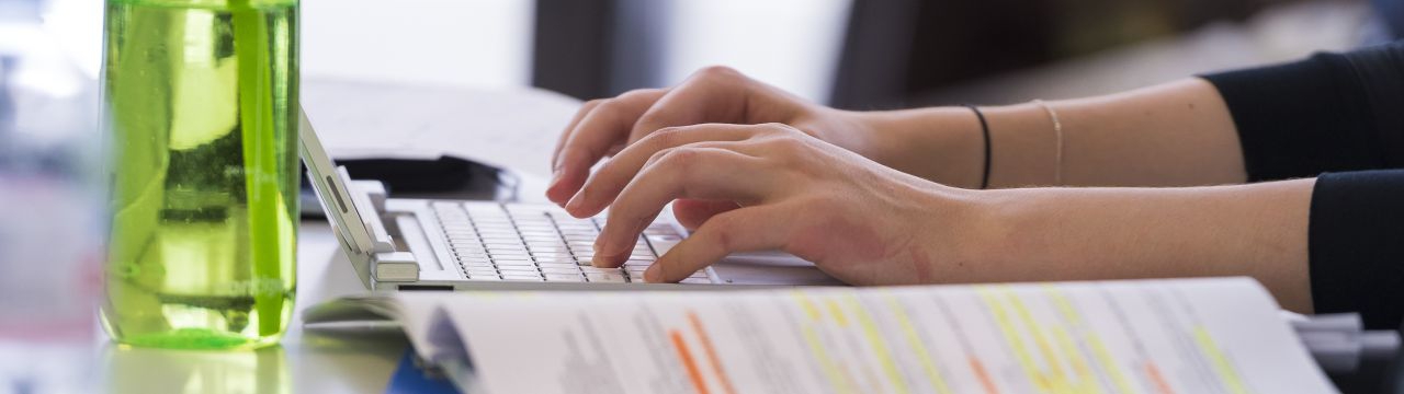
[[[594,268],[604,217],[576,219],[548,205],[434,202],[448,247],[469,280],[642,283],[643,271],[682,240],[654,223],[621,268]],[[682,283],[712,283],[706,271]]]

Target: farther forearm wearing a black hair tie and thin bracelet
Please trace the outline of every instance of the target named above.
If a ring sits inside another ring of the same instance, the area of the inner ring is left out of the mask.
[[[1038,104],[981,107],[990,126],[990,186],[1188,186],[1245,179],[1227,107],[1207,81],[1186,79],[1082,100],[1050,101],[1063,126],[1063,158]],[[965,108],[863,115],[879,163],[936,182],[979,186],[984,167],[976,116]],[[1060,175],[1057,172],[1061,171]]]

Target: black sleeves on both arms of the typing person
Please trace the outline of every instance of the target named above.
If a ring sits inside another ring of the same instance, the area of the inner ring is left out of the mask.
[[[1318,177],[1309,258],[1317,313],[1404,320],[1404,41],[1205,76],[1233,114],[1250,181]],[[1366,171],[1383,170],[1383,171]]]

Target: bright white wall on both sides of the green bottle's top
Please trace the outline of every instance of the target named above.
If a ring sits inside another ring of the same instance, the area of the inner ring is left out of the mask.
[[[46,24],[84,72],[102,0],[49,0]],[[531,83],[532,0],[302,0],[303,76],[512,87]]]

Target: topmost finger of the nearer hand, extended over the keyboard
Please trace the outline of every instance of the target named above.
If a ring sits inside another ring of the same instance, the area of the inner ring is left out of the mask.
[[[695,125],[667,128],[625,147],[609,163],[605,163],[566,203],[566,212],[576,217],[594,216],[604,210],[633,179],[639,170],[658,151],[705,142],[739,142],[757,133],[755,126],[744,125]],[[720,147],[717,144],[710,144]]]

